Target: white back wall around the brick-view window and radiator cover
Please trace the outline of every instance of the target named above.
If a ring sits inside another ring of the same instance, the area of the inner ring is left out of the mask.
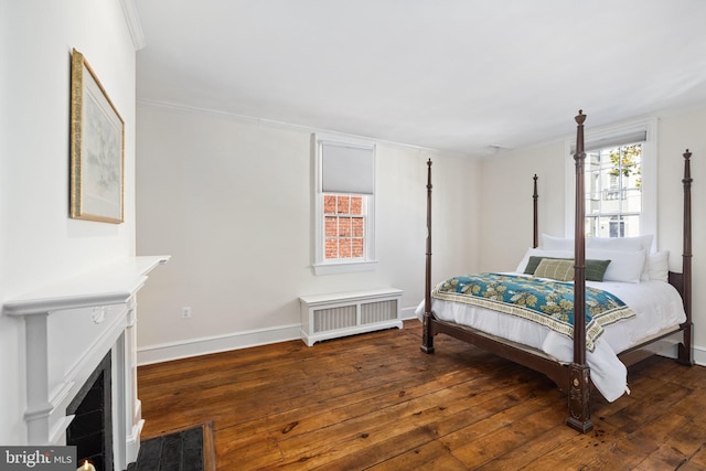
[[[138,253],[172,255],[140,292],[143,362],[298,338],[301,295],[393,286],[411,315],[424,297],[429,157],[445,181],[435,274],[474,264],[478,176],[467,159],[378,143],[378,267],[315,276],[307,130],[140,105],[137,154]]]

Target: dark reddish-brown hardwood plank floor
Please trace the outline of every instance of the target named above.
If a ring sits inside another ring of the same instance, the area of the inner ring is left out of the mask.
[[[706,470],[706,367],[663,357],[630,396],[564,425],[541,374],[421,328],[284,342],[138,368],[142,439],[213,422],[218,470]]]

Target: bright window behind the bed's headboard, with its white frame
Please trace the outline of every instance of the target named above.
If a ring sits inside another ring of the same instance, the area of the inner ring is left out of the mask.
[[[573,235],[575,142],[566,148],[565,233]],[[586,235],[656,234],[656,119],[587,132],[585,149]]]

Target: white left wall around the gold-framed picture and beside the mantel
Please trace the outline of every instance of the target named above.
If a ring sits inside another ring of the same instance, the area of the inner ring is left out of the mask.
[[[0,0],[0,299],[135,253],[135,46],[118,0]],[[68,218],[71,51],[126,122],[125,220]],[[0,315],[0,443],[25,439],[22,321]]]

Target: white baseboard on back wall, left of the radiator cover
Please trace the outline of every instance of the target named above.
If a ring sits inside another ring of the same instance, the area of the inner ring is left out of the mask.
[[[169,362],[171,360],[247,349],[249,346],[300,340],[300,330],[301,324],[290,324],[140,346],[137,349],[137,364],[139,366],[149,365],[151,363]]]

